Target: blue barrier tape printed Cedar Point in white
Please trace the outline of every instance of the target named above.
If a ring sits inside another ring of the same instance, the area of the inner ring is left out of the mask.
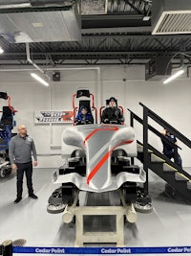
[[[129,255],[129,254],[175,254],[188,253],[191,254],[191,246],[164,246],[164,247],[28,247],[13,246],[13,253],[30,254],[65,254],[65,255]]]

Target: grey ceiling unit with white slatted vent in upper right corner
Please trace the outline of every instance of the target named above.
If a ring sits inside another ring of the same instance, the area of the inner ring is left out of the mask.
[[[190,0],[154,0],[152,34],[191,34]]]

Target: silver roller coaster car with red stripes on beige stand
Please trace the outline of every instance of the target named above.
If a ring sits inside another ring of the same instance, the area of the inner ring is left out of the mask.
[[[88,100],[80,100],[75,107],[75,97]],[[74,94],[74,116],[81,105],[96,116],[94,96],[89,90]],[[144,183],[146,177],[142,169],[130,164],[130,158],[135,156],[137,141],[131,127],[91,124],[66,128],[62,133],[64,165],[53,174],[53,183],[62,185],[49,198],[48,212],[61,212],[64,205],[72,205],[78,191],[103,193],[120,189],[127,203],[136,200],[137,183]]]

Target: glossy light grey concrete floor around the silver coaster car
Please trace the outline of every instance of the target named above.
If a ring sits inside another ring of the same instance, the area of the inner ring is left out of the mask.
[[[62,213],[47,213],[48,198],[57,185],[52,182],[53,169],[34,169],[33,188],[37,200],[28,198],[24,182],[23,199],[13,204],[16,177],[0,179],[0,242],[25,239],[26,245],[74,246],[75,228],[62,222]],[[126,246],[190,246],[191,205],[164,193],[165,182],[150,176],[153,212],[138,213],[136,223],[125,224]]]

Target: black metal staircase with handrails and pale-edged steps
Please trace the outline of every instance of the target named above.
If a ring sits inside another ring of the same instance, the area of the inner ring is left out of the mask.
[[[180,147],[172,144],[172,142],[167,139],[165,140],[165,137],[159,132],[159,130],[148,124],[149,118],[154,120],[161,127],[168,129],[189,149],[191,149],[191,141],[181,134],[179,130],[170,126],[147,106],[142,105],[141,103],[139,105],[143,106],[143,119],[139,118],[138,115],[130,109],[128,110],[130,111],[131,126],[134,127],[135,120],[143,126],[143,142],[141,143],[138,141],[138,160],[143,163],[143,169],[147,176],[144,184],[144,194],[149,195],[148,170],[151,170],[165,180],[172,189],[180,194],[182,198],[191,202],[191,175],[182,170],[182,168],[177,164],[178,149],[180,149]],[[149,131],[152,131],[159,136],[160,139],[164,139],[167,144],[174,147],[174,162],[148,143]]]

